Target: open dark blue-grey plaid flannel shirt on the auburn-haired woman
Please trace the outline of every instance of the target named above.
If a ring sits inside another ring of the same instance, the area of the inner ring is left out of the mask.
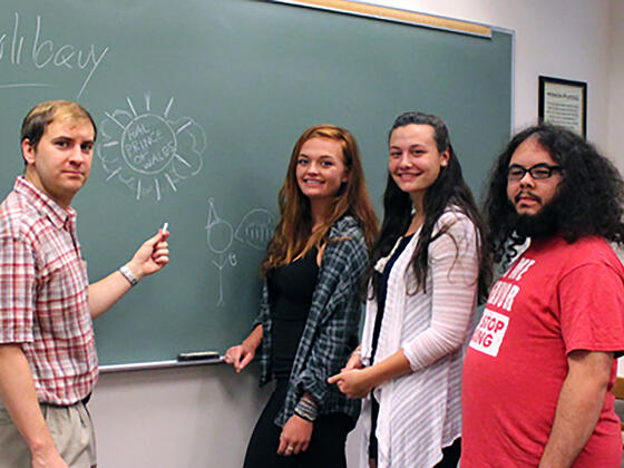
[[[363,303],[360,281],[369,262],[362,230],[351,216],[343,216],[330,228],[312,304],[299,343],[289,390],[275,423],[280,427],[294,413],[303,393],[310,393],[319,415],[343,412],[357,419],[360,400],[349,399],[328,378],[339,373],[359,343]],[[254,322],[263,326],[260,351],[260,384],[272,379],[271,313],[269,289],[264,282],[260,314]]]

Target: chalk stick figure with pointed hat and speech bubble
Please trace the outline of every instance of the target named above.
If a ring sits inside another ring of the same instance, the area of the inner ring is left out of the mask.
[[[212,263],[218,270],[218,300],[216,305],[224,306],[223,269],[230,264],[235,267],[238,257],[233,251],[233,241],[243,243],[243,246],[263,251],[273,235],[275,216],[265,208],[250,209],[238,223],[236,231],[232,224],[218,214],[214,198],[208,199],[208,220],[206,221],[206,244],[208,250],[216,255]]]

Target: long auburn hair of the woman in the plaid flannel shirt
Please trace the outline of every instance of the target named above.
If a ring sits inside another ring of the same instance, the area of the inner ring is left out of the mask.
[[[339,142],[349,178],[332,203],[332,209],[323,225],[312,232],[310,199],[303,195],[296,182],[296,162],[301,147],[312,138],[329,138]],[[360,224],[369,248],[378,233],[377,215],[370,202],[360,159],[358,143],[351,133],[335,125],[316,125],[306,129],[296,140],[291,153],[286,179],[279,195],[281,217],[269,243],[266,256],[261,264],[264,276],[274,267],[286,265],[298,256],[305,255],[312,247],[328,241],[330,227],[345,214],[351,214]]]

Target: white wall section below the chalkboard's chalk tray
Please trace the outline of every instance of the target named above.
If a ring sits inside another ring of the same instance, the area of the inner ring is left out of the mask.
[[[198,365],[100,376],[89,403],[100,468],[241,467],[269,396],[257,367]]]

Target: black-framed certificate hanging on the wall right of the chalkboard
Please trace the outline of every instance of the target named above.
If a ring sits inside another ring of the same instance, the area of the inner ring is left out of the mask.
[[[587,137],[587,84],[539,76],[538,118]]]

